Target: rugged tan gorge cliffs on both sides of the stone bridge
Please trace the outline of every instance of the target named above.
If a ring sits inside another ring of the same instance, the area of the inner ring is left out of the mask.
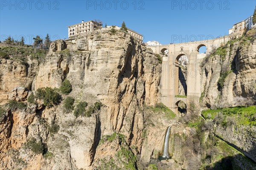
[[[237,97],[255,101],[254,37],[248,31],[204,60],[202,107],[241,105]],[[255,169],[242,154],[254,158],[254,110],[244,117],[232,112],[234,124],[231,112],[210,110],[203,119],[197,104],[178,117],[160,103],[160,63],[130,34],[110,29],[75,43],[54,41],[47,54],[0,47],[0,169]],[[231,133],[241,120],[248,133]]]

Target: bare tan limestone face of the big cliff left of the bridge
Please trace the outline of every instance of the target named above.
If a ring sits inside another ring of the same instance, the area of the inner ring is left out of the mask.
[[[3,88],[6,98],[24,101],[27,94],[17,87],[26,87],[35,94],[38,88],[59,88],[64,79],[68,79],[73,89],[69,96],[76,99],[75,106],[80,101],[88,102],[89,106],[100,101],[104,106],[91,117],[76,118],[73,112],[66,113],[62,104],[45,108],[38,101],[35,110],[27,115],[30,116],[28,122],[15,117],[26,114],[31,104],[20,112],[19,109],[8,110],[1,124],[10,127],[3,127],[5,133],[1,133],[0,140],[5,142],[0,147],[8,147],[3,150],[6,154],[0,154],[5,162],[0,169],[19,167],[17,159],[24,163],[23,169],[93,169],[94,159],[103,159],[101,151],[96,149],[100,139],[114,132],[125,136],[126,148],[131,151],[130,147],[134,147],[132,154],[140,153],[143,108],[160,102],[160,75],[157,57],[124,31],[117,31],[115,35],[104,30],[91,32],[76,43],[52,42],[47,57],[38,66],[36,77],[29,77],[30,86],[24,86],[26,81],[21,81],[12,88]],[[57,133],[49,130],[52,122],[59,126]],[[8,134],[22,138],[17,142],[18,138],[6,137]],[[44,158],[23,147],[32,138],[46,144],[53,156]],[[9,156],[11,150],[15,150],[15,157]],[[114,150],[108,152],[113,155]]]

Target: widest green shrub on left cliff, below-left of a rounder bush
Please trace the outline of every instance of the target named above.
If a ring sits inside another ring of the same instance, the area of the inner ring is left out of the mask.
[[[58,105],[61,100],[61,95],[54,91],[52,88],[39,88],[36,91],[36,97],[44,100],[44,105],[48,108],[53,105]]]

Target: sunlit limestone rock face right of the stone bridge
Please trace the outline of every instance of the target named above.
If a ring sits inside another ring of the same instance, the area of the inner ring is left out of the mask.
[[[246,38],[250,36],[251,40]],[[201,102],[206,108],[250,105],[256,101],[256,30],[213,53],[202,65]],[[244,101],[241,102],[241,101]]]

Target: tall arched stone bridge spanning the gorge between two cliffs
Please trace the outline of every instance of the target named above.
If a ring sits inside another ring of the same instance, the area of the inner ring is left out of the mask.
[[[163,104],[178,113],[178,104],[183,101],[186,105],[189,102],[199,103],[201,96],[201,62],[214,48],[224,45],[229,37],[220,37],[212,40],[184,42],[178,44],[147,46],[154,53],[163,57],[161,75],[161,100]],[[206,54],[199,54],[199,48],[206,47]],[[186,96],[178,96],[179,85],[179,65],[178,60],[186,55],[187,76],[186,76]],[[181,98],[182,97],[182,98]]]

